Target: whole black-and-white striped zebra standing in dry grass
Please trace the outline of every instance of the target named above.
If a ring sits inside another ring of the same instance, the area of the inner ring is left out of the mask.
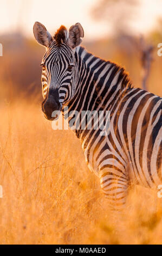
[[[80,46],[80,23],[67,31],[61,26],[54,36],[34,24],[38,44],[46,47],[42,59],[42,111],[55,120],[70,111],[109,111],[109,133],[100,129],[74,129],[89,169],[100,179],[109,205],[122,208],[130,184],[161,184],[162,99],[134,88],[124,68],[94,56]],[[68,107],[67,112],[63,112]],[[69,119],[68,119],[69,121]]]

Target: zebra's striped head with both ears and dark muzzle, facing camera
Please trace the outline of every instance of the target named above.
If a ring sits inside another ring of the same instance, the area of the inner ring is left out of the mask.
[[[54,36],[40,23],[34,24],[34,36],[38,44],[46,47],[42,59],[42,111],[48,120],[54,111],[60,112],[62,105],[73,99],[78,76],[75,48],[82,42],[84,32],[80,23],[69,29],[61,26]]]

